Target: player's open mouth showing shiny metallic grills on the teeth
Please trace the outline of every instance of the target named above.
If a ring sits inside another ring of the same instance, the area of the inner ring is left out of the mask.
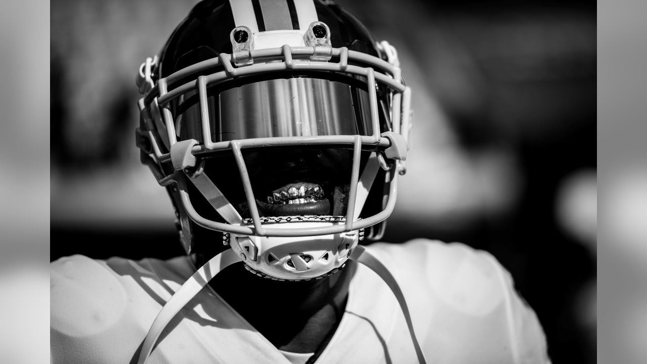
[[[265,216],[327,215],[330,201],[318,183],[289,183],[256,200]]]

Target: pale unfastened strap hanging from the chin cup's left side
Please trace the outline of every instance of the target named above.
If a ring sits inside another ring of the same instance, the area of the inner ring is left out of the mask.
[[[139,353],[137,364],[146,363],[148,357],[153,351],[155,343],[157,343],[157,339],[159,339],[160,334],[162,334],[162,330],[164,330],[173,317],[182,310],[182,307],[186,306],[186,304],[191,301],[193,297],[195,297],[195,295],[197,295],[198,292],[215,277],[215,275],[236,262],[240,262],[236,253],[234,253],[232,249],[227,249],[226,251],[223,251],[223,253],[211,258],[206,262],[206,264],[204,264],[204,266],[200,267],[200,269],[193,273],[190,279],[182,284],[182,287],[180,287],[180,289],[171,296],[168,302],[164,304],[160,313],[155,317],[155,321],[151,324],[151,328],[148,330],[148,334],[146,334],[144,343],[142,343],[142,350]]]

